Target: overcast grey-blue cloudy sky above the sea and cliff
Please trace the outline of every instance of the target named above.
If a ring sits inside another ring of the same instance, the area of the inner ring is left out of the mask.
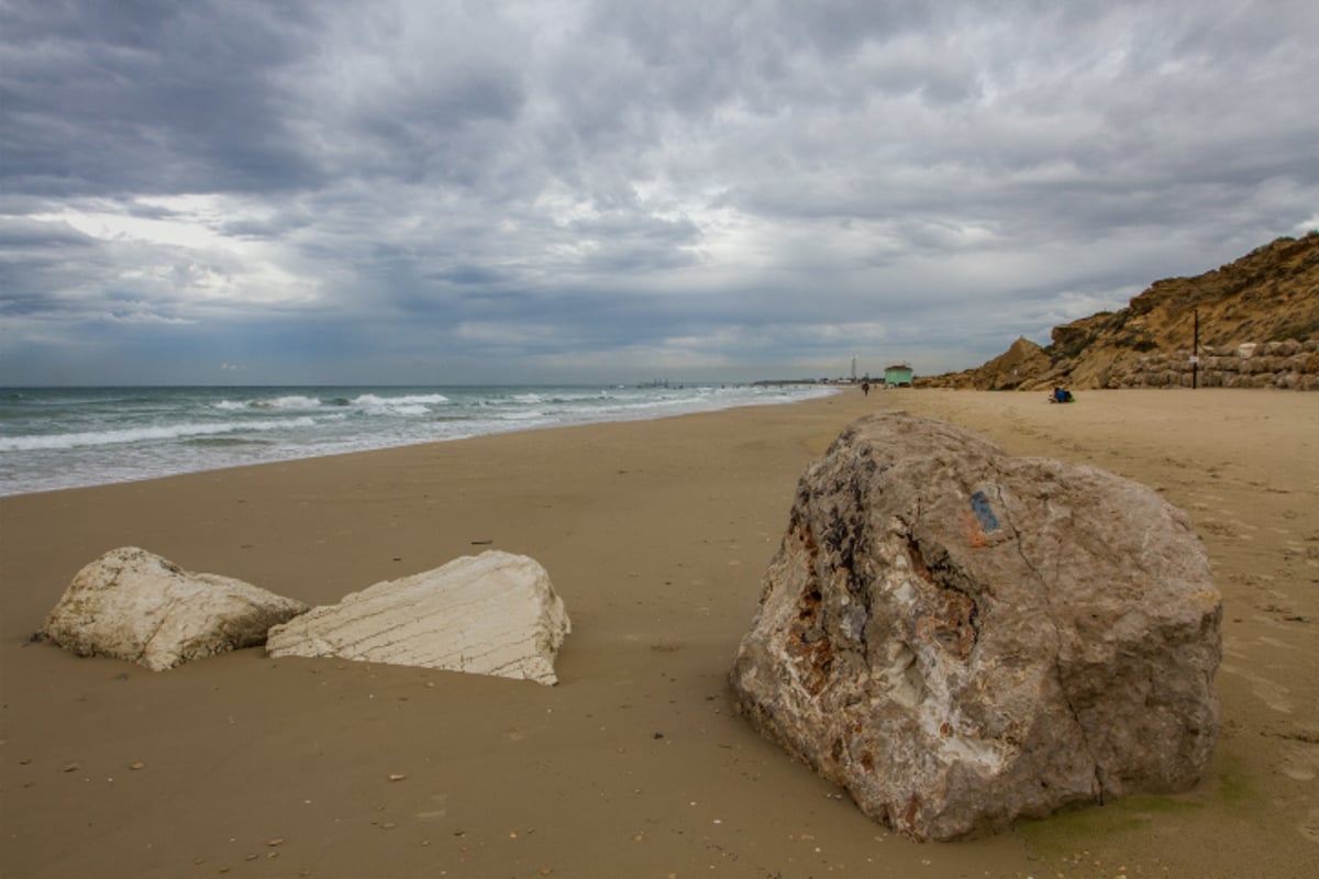
[[[977,365],[1319,225],[1319,3],[0,0],[0,385]]]

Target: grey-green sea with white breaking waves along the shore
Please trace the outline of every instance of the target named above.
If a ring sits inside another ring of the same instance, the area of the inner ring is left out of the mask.
[[[832,393],[819,385],[0,387],[0,496],[630,422]]]

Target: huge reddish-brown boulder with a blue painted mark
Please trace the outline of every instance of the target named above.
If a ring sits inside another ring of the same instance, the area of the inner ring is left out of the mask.
[[[1196,783],[1221,602],[1187,517],[905,414],[802,476],[739,709],[918,839]]]

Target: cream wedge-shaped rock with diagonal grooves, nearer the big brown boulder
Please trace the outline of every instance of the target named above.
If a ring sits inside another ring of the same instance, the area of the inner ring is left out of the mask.
[[[568,631],[545,568],[488,551],[315,608],[273,629],[266,650],[555,684]]]

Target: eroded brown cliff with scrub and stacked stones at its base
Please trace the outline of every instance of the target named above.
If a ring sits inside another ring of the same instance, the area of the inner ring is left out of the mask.
[[[1319,390],[1319,232],[1278,239],[1194,278],[1154,282],[1126,308],[1018,339],[975,369],[925,387],[1178,387],[1192,382],[1195,315],[1203,386]]]

